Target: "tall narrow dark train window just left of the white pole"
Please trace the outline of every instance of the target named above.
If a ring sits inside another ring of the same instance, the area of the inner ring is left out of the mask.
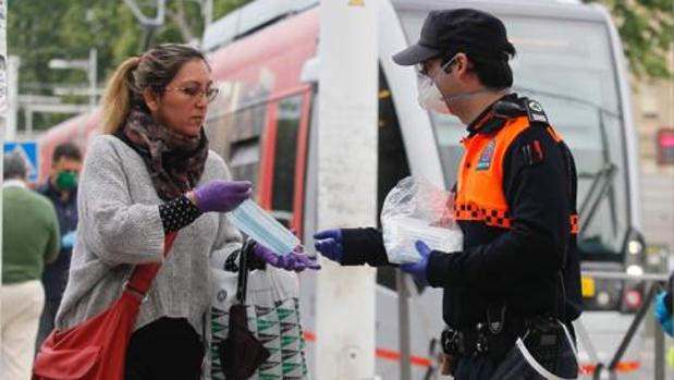
[[[274,217],[286,225],[290,225],[293,216],[297,133],[301,115],[301,95],[279,100],[271,209]]]

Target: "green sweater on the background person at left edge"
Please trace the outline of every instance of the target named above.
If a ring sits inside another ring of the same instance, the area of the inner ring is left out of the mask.
[[[46,197],[7,181],[2,186],[2,284],[39,280],[57,259],[59,222]]]

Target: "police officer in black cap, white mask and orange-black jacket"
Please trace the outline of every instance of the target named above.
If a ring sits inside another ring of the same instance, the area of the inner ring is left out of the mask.
[[[580,314],[573,157],[535,100],[513,94],[503,23],[473,9],[432,11],[419,42],[393,57],[417,65],[419,102],[467,125],[454,214],[463,252],[431,250],[401,269],[442,287],[442,334],[455,379],[577,376],[571,321]],[[342,265],[389,265],[381,232],[338,229],[316,248]]]

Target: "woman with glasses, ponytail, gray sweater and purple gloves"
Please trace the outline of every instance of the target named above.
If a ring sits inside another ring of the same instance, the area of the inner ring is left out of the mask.
[[[56,326],[95,316],[120,296],[134,266],[161,262],[131,336],[126,380],[200,378],[211,256],[246,255],[253,268],[314,267],[299,254],[272,260],[261,245],[241,253],[225,212],[250,196],[252,184],[232,181],[208,149],[203,125],[217,93],[201,52],[161,45],[123,62],[102,99],[103,133],[84,163],[77,242]]]

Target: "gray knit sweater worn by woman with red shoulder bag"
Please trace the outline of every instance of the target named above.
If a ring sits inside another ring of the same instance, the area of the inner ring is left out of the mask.
[[[230,179],[230,172],[210,151],[199,184],[217,179]],[[114,136],[94,139],[81,177],[77,242],[57,315],[58,329],[73,327],[111,305],[134,265],[163,261],[135,328],[172,317],[186,318],[203,332],[211,301],[210,258],[240,248],[241,234],[223,213],[204,213],[180,230],[164,259],[161,201],[138,154]]]

